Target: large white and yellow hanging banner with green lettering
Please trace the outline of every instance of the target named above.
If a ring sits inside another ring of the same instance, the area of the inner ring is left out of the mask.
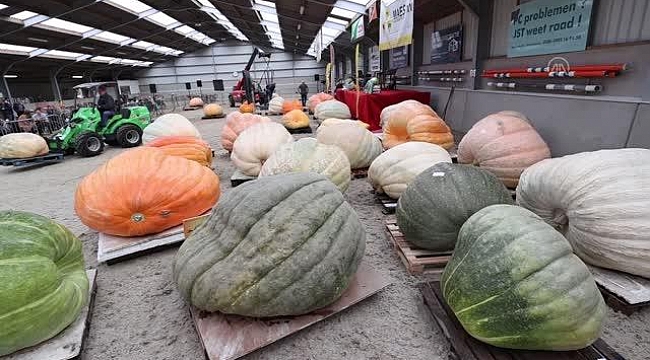
[[[389,50],[413,41],[413,0],[381,2],[379,49]]]

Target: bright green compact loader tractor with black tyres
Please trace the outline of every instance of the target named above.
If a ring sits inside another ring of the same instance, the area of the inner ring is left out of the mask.
[[[115,82],[86,83],[77,85],[77,99],[88,99],[97,94],[100,85],[114,96],[119,104],[120,94]],[[76,103],[76,101],[75,101]],[[106,127],[100,127],[101,114],[94,104],[84,104],[72,115],[68,125],[53,136],[46,138],[50,151],[80,156],[95,156],[104,150],[104,143],[112,146],[134,147],[142,143],[142,131],[151,121],[146,106],[120,108],[108,120]]]

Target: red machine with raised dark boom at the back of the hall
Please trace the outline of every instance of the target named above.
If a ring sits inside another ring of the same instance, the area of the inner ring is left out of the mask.
[[[262,76],[260,76],[259,81],[254,81],[251,77],[250,70],[257,58],[262,59],[265,66],[262,70]],[[275,91],[273,70],[271,70],[270,62],[270,53],[264,53],[259,48],[253,50],[253,54],[251,54],[244,71],[242,71],[242,78],[237,82],[237,85],[233,87],[233,91],[228,95],[230,107],[235,107],[237,103],[243,103],[244,101],[255,102],[262,107],[268,104],[273,97],[273,91]],[[262,89],[263,82],[265,84],[264,89]],[[252,101],[252,99],[254,100]]]

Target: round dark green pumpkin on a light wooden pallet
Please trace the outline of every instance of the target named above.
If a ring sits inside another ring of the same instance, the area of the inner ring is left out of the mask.
[[[397,202],[397,224],[409,242],[429,250],[454,249],[458,231],[475,212],[512,204],[494,175],[474,166],[438,163],[415,177]]]

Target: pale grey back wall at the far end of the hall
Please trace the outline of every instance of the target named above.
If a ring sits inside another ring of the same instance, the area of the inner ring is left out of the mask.
[[[149,92],[149,84],[156,84],[159,93],[185,93],[185,83],[191,82],[196,91],[196,80],[203,81],[203,91],[213,91],[212,80],[222,79],[226,91],[241,78],[241,71],[246,66],[253,51],[247,44],[220,43],[201,51],[185,54],[174,61],[155,65],[140,71],[137,77],[140,90]],[[255,78],[259,78],[265,65],[257,60],[251,69]],[[310,93],[316,92],[314,74],[325,74],[325,64],[317,63],[314,58],[286,52],[271,55],[271,68],[274,70],[276,92],[285,97],[295,97],[296,88],[301,81],[309,86]],[[233,77],[237,72],[237,77]]]

